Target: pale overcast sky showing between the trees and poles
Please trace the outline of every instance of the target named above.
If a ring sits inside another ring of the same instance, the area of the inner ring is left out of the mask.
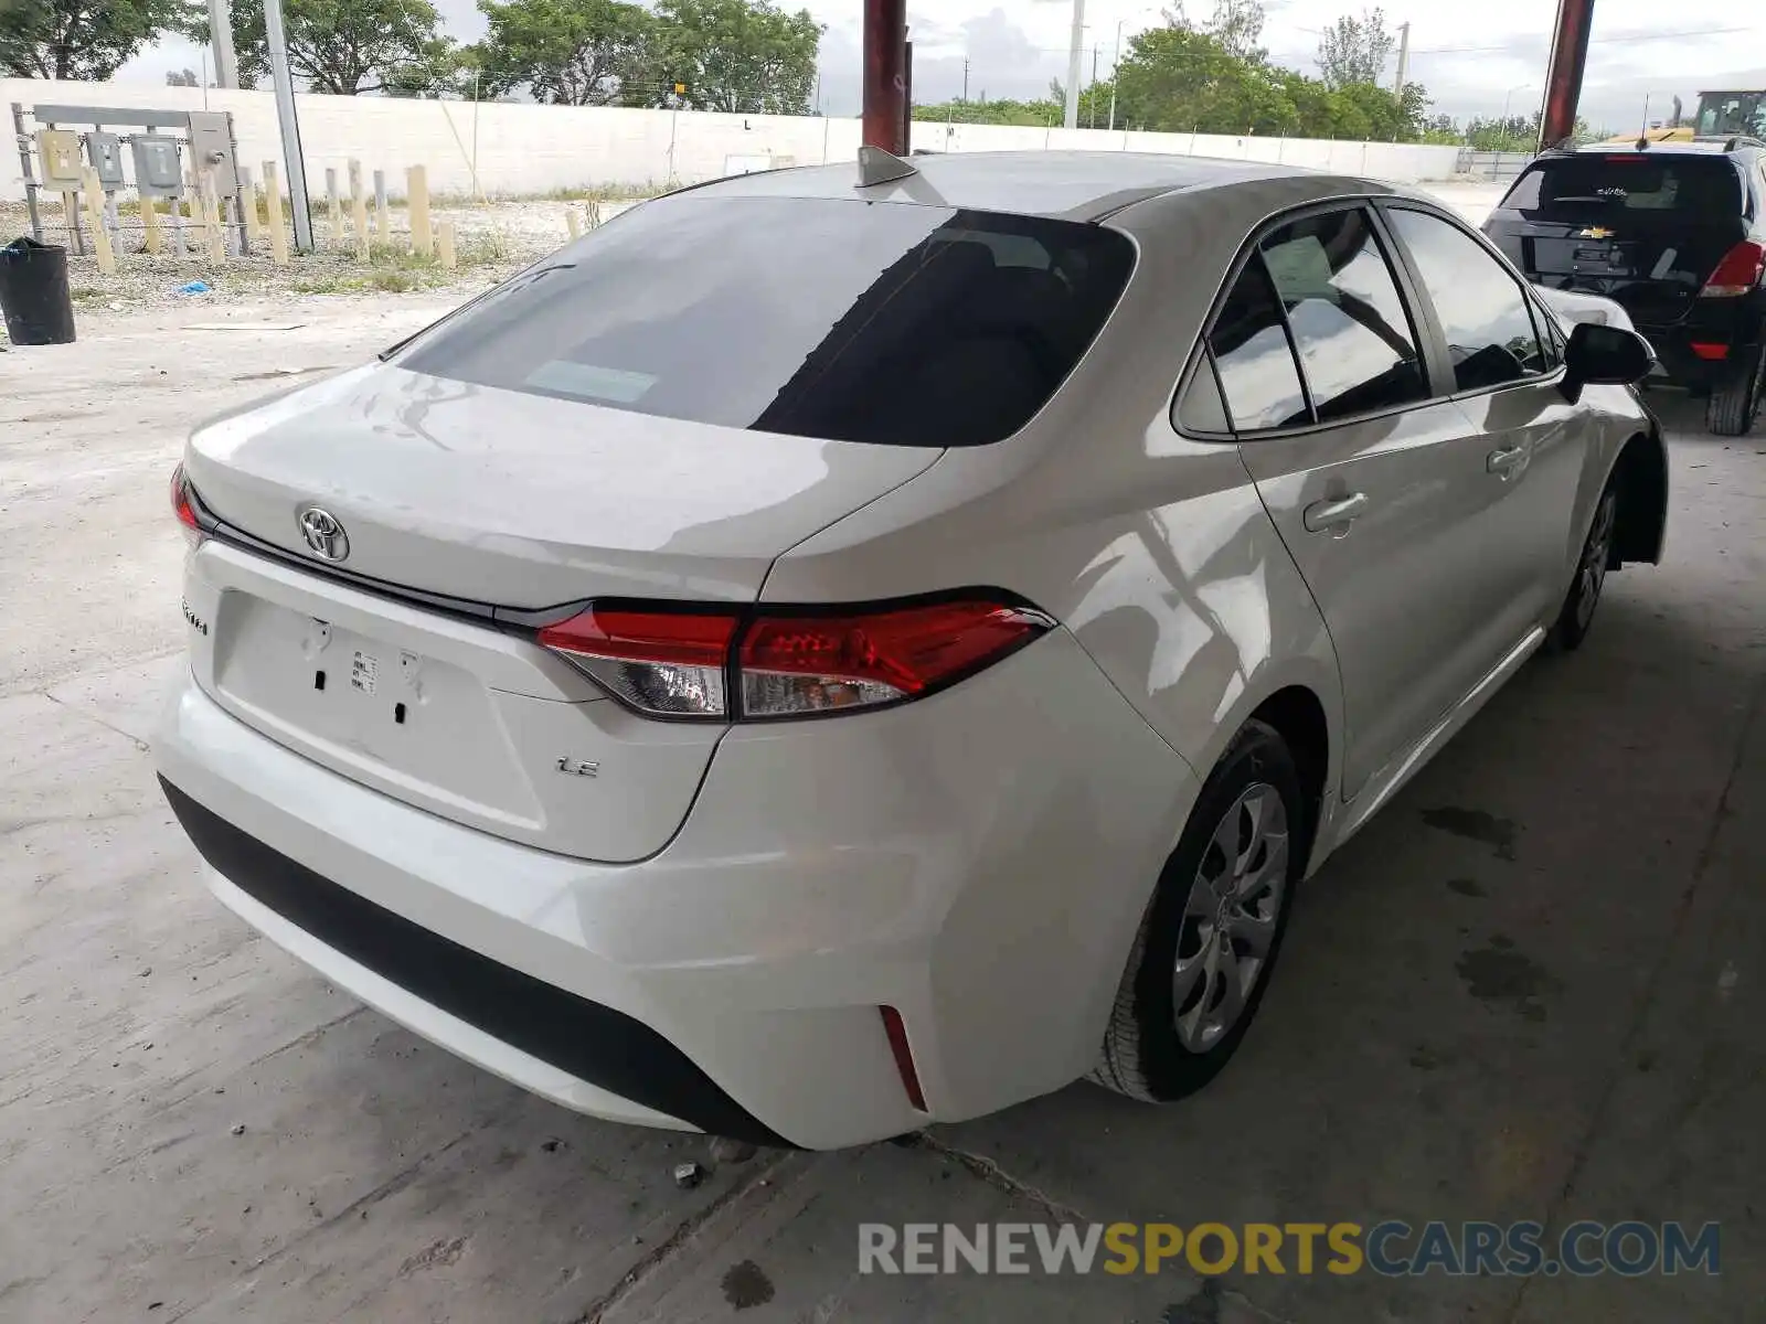
[[[1213,0],[1190,0],[1204,16]],[[826,25],[821,41],[821,108],[855,115],[860,97],[860,0],[786,0]],[[447,30],[473,41],[484,30],[473,0],[436,0]],[[1293,69],[1316,72],[1319,30],[1358,0],[1270,0],[1264,44]],[[1545,55],[1556,5],[1547,0],[1388,0],[1388,25],[1411,21],[1411,79],[1423,83],[1434,108],[1455,118],[1498,115],[1505,104],[1531,113],[1540,101]],[[1754,12],[1750,12],[1754,11]],[[1476,19],[1471,19],[1471,14]],[[970,95],[1035,97],[1051,78],[1067,76],[1072,0],[909,0],[915,41],[915,101],[931,102],[962,92],[968,62]],[[1098,72],[1109,74],[1118,25],[1132,35],[1158,21],[1158,5],[1141,0],[1088,0],[1084,76],[1091,46]],[[198,49],[164,42],[131,62],[122,78],[164,81],[168,69],[198,67]],[[1388,78],[1395,69],[1388,69]],[[1766,12],[1734,0],[1598,0],[1589,46],[1582,113],[1596,127],[1630,129],[1642,120],[1644,97],[1667,111],[1679,94],[1692,109],[1706,87],[1766,87]]]

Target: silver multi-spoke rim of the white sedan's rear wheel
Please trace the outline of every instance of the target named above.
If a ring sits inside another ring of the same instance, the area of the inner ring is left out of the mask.
[[[1245,1015],[1286,893],[1287,807],[1273,786],[1252,782],[1215,824],[1183,906],[1171,1006],[1190,1052],[1208,1052]]]

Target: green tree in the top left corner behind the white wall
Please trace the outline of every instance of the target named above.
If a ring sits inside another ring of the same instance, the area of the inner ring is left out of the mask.
[[[192,0],[0,0],[0,74],[102,83],[198,12]]]

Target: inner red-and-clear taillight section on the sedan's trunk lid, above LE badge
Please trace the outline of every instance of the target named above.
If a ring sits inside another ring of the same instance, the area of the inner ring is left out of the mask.
[[[652,717],[728,717],[736,614],[590,607],[539,632],[615,697]]]

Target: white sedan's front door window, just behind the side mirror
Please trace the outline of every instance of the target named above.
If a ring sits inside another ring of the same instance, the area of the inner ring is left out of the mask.
[[[1501,387],[1551,371],[1531,300],[1478,240],[1427,212],[1392,208],[1388,217],[1441,321],[1455,390]]]

